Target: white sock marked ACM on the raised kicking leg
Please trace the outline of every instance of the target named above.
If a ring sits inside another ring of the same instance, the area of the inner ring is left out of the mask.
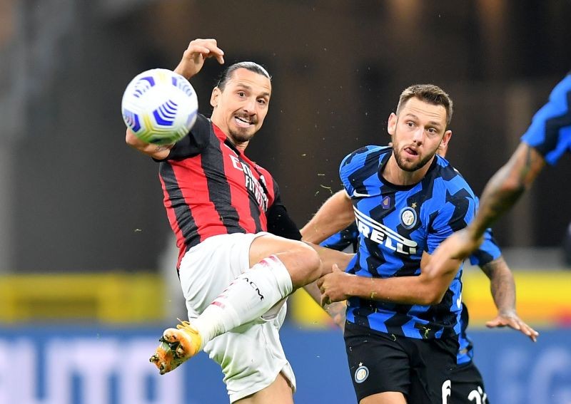
[[[212,338],[262,316],[292,291],[282,261],[275,255],[262,259],[236,277],[192,322],[202,337],[201,348]]]

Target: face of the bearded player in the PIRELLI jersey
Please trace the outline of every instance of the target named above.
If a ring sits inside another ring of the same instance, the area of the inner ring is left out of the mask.
[[[441,143],[448,145],[452,132],[446,129],[446,109],[410,98],[398,115],[390,114],[388,133],[400,169],[413,172],[430,162]]]

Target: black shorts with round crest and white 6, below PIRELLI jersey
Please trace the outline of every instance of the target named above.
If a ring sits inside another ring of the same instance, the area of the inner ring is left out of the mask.
[[[400,391],[410,404],[446,403],[450,374],[456,367],[457,338],[393,336],[349,322],[344,338],[358,401]]]

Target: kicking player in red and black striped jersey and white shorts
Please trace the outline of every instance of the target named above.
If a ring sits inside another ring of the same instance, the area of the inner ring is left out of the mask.
[[[191,78],[211,57],[223,63],[216,40],[196,39],[175,71]],[[164,331],[151,362],[162,374],[203,349],[221,365],[231,403],[293,403],[295,377],[278,335],[285,298],[331,268],[298,241],[278,185],[244,155],[271,92],[265,68],[235,63],[213,88],[211,118],[198,115],[178,143],[152,145],[126,134],[128,145],[160,162],[190,319]]]

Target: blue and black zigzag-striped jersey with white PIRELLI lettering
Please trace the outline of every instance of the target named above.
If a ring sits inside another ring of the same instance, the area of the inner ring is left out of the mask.
[[[381,172],[390,147],[367,146],[340,165],[345,191],[353,200],[359,231],[357,254],[347,271],[358,276],[387,278],[420,274],[423,252],[432,254],[453,232],[463,229],[475,213],[473,191],[463,177],[436,156],[423,180],[393,185]],[[347,319],[376,331],[411,338],[440,338],[460,333],[460,276],[456,274],[440,304],[393,304],[352,297]]]

